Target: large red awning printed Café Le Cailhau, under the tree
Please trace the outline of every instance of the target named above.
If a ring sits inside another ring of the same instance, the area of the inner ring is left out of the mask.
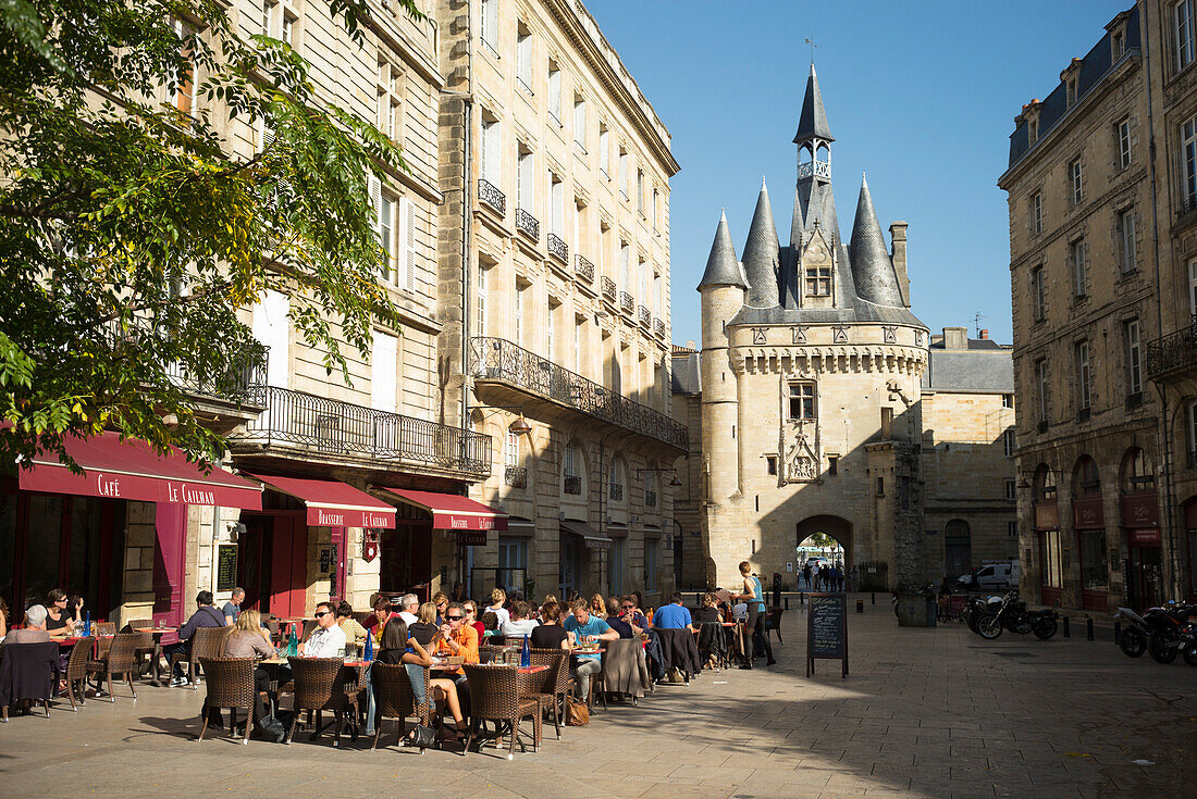
[[[22,490],[262,510],[261,486],[219,466],[203,474],[182,450],[171,447],[162,457],[145,441],[122,441],[116,433],[87,439],[68,435],[63,441],[84,474],[72,474],[55,453],[42,452],[32,469],[20,469]]]

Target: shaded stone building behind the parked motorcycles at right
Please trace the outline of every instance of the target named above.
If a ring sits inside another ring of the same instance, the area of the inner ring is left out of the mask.
[[[1022,587],[1044,604],[1101,612],[1193,590],[1191,5],[1110,20],[1015,117],[998,181]]]

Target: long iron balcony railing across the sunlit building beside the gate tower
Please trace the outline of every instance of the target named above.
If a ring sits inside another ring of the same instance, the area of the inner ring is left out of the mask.
[[[685,425],[518,344],[504,338],[475,337],[469,352],[469,368],[476,380],[502,380],[639,435],[680,450],[687,447]]]

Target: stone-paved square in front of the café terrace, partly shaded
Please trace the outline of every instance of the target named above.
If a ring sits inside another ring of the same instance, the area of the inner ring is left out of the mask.
[[[1083,635],[899,629],[888,597],[864,596],[865,612],[849,615],[847,679],[837,661],[804,677],[806,617],[791,609],[778,666],[658,687],[564,740],[547,727],[540,752],[514,762],[493,749],[338,751],[302,733],[291,746],[196,743],[202,685],[146,685],[135,702],[119,688],[116,705],[0,725],[0,795],[1193,795],[1197,669]]]

